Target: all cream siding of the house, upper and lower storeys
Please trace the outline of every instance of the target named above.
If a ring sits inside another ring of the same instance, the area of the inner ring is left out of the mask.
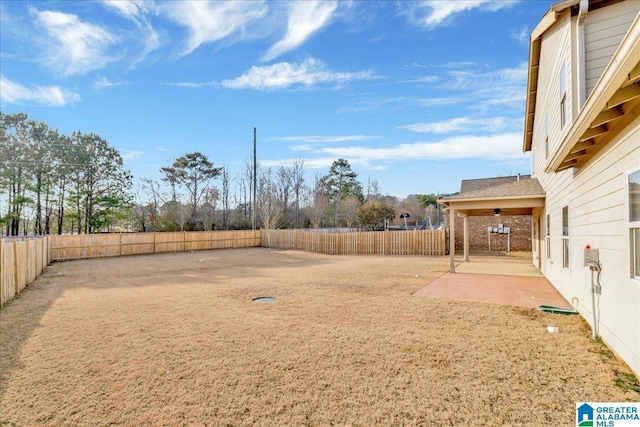
[[[630,9],[635,12],[629,13]],[[640,10],[640,1],[607,3],[589,11],[585,25],[587,38],[587,96],[611,60],[614,46],[605,52],[598,43],[613,43],[607,38],[624,34],[629,24],[617,28],[615,22],[630,23]],[[625,15],[625,16],[622,16]],[[609,23],[600,21],[610,19]],[[577,22],[577,17],[574,17]],[[598,25],[601,26],[598,29]],[[604,25],[604,27],[602,27]],[[576,301],[576,308],[584,319],[591,323],[591,271],[584,267],[582,251],[589,245],[598,249],[602,264],[599,331],[603,340],[629,363],[635,372],[640,372],[640,279],[630,276],[637,262],[634,249],[635,223],[630,221],[629,174],[640,170],[640,118],[616,135],[598,154],[579,169],[567,169],[558,173],[546,173],[549,159],[557,154],[562,137],[571,125],[560,126],[560,90],[558,76],[562,64],[567,67],[567,101],[569,124],[572,117],[578,118],[572,108],[573,93],[579,85],[574,75],[572,59],[572,19],[568,9],[561,12],[542,36],[538,68],[537,99],[532,135],[532,156],[536,156],[535,177],[544,188],[546,218],[549,234],[546,236],[547,257],[542,260],[545,277],[567,301]],[[596,34],[601,32],[600,34]],[[610,34],[609,34],[610,33]],[[609,34],[609,35],[607,35]],[[618,36],[618,42],[622,36]],[[599,40],[599,41],[598,41]],[[576,46],[573,47],[577,49]],[[597,56],[600,56],[597,58]],[[605,61],[597,64],[597,61]],[[599,69],[596,69],[600,67]],[[590,80],[589,80],[590,79]],[[577,103],[576,103],[577,105]],[[548,129],[545,117],[548,115]],[[545,141],[548,135],[548,158],[545,158]],[[568,206],[569,267],[562,266],[562,208]]]

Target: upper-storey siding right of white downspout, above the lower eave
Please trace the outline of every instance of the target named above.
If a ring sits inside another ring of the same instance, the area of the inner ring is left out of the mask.
[[[623,1],[589,11],[585,18],[587,97],[640,12],[640,1]]]

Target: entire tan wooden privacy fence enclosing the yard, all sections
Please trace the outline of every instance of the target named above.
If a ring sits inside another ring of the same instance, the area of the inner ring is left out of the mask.
[[[328,255],[445,255],[446,235],[444,230],[242,230],[0,238],[0,306],[53,261],[258,246]]]

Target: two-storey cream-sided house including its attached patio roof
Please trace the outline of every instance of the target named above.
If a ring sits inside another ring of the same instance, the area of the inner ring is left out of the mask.
[[[530,212],[533,264],[640,373],[640,1],[550,7],[531,34],[523,150],[537,190],[441,203]]]

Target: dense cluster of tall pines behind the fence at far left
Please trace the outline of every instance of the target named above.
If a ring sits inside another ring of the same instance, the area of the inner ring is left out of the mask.
[[[0,112],[0,226],[8,236],[95,233],[126,214],[133,177],[95,134]]]

